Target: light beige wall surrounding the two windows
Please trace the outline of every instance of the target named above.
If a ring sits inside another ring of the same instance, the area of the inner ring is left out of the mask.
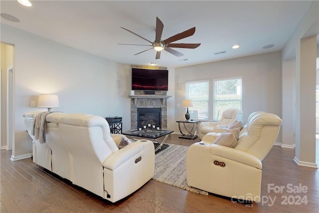
[[[265,111],[281,117],[281,52],[198,64],[175,69],[175,119],[184,119],[185,81],[242,77],[243,122],[255,111]],[[211,86],[212,88],[212,86]],[[210,95],[211,98],[212,94]],[[209,120],[212,120],[210,99]],[[177,124],[176,124],[177,126]]]

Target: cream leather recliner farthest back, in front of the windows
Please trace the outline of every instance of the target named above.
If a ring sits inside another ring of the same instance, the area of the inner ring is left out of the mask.
[[[228,108],[223,111],[218,122],[207,121],[199,124],[199,138],[202,139],[202,137],[209,132],[223,132],[225,131],[224,129],[227,128],[227,125],[232,124],[234,121],[242,121],[242,117],[243,111],[235,108]]]

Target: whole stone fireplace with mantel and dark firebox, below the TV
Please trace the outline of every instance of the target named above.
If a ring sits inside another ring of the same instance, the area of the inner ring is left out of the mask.
[[[171,96],[167,96],[166,91],[157,91],[154,95],[144,95],[143,91],[135,91],[135,95],[130,97],[132,130],[142,127],[143,122],[154,122],[157,127],[167,129],[166,99]]]

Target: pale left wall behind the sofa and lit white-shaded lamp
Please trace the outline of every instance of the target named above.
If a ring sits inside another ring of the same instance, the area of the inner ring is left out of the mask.
[[[39,94],[57,94],[66,113],[122,116],[119,64],[1,24],[1,42],[14,44],[15,142],[13,159],[32,153],[22,114]]]

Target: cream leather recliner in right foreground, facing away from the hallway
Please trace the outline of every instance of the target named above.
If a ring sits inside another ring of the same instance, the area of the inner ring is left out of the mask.
[[[262,160],[276,141],[281,124],[275,114],[256,112],[249,116],[234,148],[213,144],[213,135],[192,144],[186,155],[188,186],[259,202]]]

